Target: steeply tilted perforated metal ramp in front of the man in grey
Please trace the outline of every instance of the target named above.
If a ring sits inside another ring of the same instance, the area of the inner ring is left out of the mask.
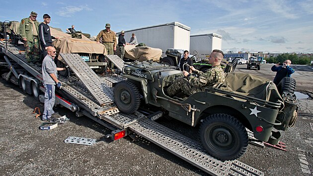
[[[113,91],[105,84],[101,85],[99,77],[89,68],[78,54],[60,53],[78,79],[85,85],[91,95],[103,106],[113,102]]]

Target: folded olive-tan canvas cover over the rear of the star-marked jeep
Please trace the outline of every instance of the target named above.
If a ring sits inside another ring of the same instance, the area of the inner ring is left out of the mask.
[[[252,74],[227,73],[226,80],[220,88],[270,102],[284,102],[272,81]]]

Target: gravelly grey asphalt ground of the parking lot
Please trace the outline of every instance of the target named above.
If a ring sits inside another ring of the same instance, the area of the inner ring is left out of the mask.
[[[260,71],[246,70],[238,65],[236,72],[253,73],[273,79],[273,64],[263,64]],[[294,66],[292,75],[297,91],[312,95],[313,70],[309,66]],[[76,117],[62,107],[56,111],[70,118],[52,130],[40,130],[42,123],[32,114],[43,104],[12,83],[0,79],[0,175],[134,175],[134,176],[200,176],[203,171],[175,157],[157,145],[141,138],[130,137],[112,142],[104,136],[110,130],[88,117]],[[312,97],[312,96],[311,96]],[[313,174],[313,102],[312,98],[299,100],[299,118],[296,125],[282,132],[287,151],[249,145],[239,161],[264,172],[267,176],[310,176]],[[197,129],[176,120],[157,120],[191,137],[197,138]],[[92,138],[92,146],[68,144],[70,136]]]

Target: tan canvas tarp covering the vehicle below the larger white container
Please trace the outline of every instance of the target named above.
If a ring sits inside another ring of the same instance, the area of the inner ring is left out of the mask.
[[[121,51],[118,47],[114,54],[120,56]],[[125,46],[125,58],[131,60],[139,60],[140,62],[154,60],[159,61],[162,55],[162,50],[158,48],[152,48],[148,46],[136,47],[135,45],[126,45]]]

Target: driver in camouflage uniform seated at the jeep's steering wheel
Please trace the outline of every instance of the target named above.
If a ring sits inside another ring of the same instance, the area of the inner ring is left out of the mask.
[[[206,73],[203,73],[191,66],[190,73],[192,71],[198,76],[194,77],[191,76],[190,73],[183,71],[184,78],[179,78],[174,81],[174,83],[166,89],[166,94],[172,96],[179,92],[183,92],[190,96],[195,92],[204,91],[205,88],[223,83],[225,81],[225,74],[220,65],[223,56],[224,53],[221,50],[213,50],[209,58],[209,63],[212,65],[211,69]]]

